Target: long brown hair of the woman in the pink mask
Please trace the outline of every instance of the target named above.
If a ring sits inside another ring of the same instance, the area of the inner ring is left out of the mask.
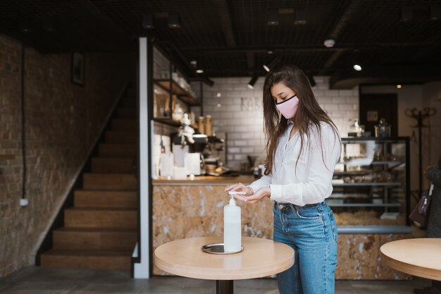
[[[297,66],[285,64],[278,66],[266,74],[265,83],[263,84],[263,128],[266,135],[266,169],[265,174],[268,175],[273,170],[273,161],[275,149],[278,145],[280,136],[287,129],[287,119],[280,115],[275,107],[273,97],[271,95],[271,87],[273,85],[282,83],[290,87],[296,92],[299,98],[299,107],[297,114],[294,116],[294,125],[297,127],[300,137],[300,152],[297,155],[297,161],[302,155],[304,147],[304,135],[308,138],[313,128],[318,130],[319,145],[321,147],[321,154],[323,158],[323,147],[321,142],[321,122],[328,123],[334,130],[335,136],[338,136],[337,127],[330,119],[328,114],[318,105],[316,97],[311,89],[311,84],[304,74],[304,72]],[[340,140],[340,137],[339,137]],[[324,162],[324,158],[323,158]],[[297,166],[297,164],[296,164]]]

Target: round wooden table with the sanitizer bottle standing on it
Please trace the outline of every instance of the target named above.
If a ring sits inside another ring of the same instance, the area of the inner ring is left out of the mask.
[[[202,245],[222,243],[222,237],[175,240],[156,248],[154,264],[170,274],[216,280],[216,293],[233,293],[233,280],[278,274],[294,264],[288,245],[262,238],[242,237],[244,250],[232,255],[213,255]]]

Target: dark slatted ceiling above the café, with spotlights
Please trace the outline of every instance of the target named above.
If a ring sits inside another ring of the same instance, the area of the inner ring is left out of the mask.
[[[440,66],[441,20],[429,18],[434,5],[441,1],[1,0],[0,32],[47,53],[136,50],[138,37],[154,36],[187,63],[197,59],[210,78],[263,75],[272,56],[332,75],[351,68],[356,56],[366,66]],[[411,20],[401,20],[403,6],[412,7]],[[306,24],[294,25],[292,11],[302,9]],[[278,25],[267,25],[270,10],[279,11]],[[173,29],[166,16],[176,12],[180,28]],[[154,29],[142,28],[143,13],[154,15]],[[44,30],[47,20],[54,32]],[[32,31],[21,32],[20,23]],[[323,46],[329,38],[332,49]]]

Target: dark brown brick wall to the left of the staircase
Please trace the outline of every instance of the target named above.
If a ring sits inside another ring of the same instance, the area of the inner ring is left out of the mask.
[[[70,54],[25,49],[27,207],[20,207],[21,45],[0,35],[0,276],[33,264],[42,238],[128,80],[136,54],[85,54],[85,86],[70,81]],[[1,158],[1,157],[0,157]]]

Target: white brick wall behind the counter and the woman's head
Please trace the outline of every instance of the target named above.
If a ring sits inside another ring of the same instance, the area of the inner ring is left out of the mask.
[[[204,115],[211,114],[216,132],[228,134],[228,166],[240,169],[247,155],[257,156],[256,164],[265,160],[263,134],[262,88],[264,78],[257,80],[253,90],[250,78],[213,78],[213,87],[204,85]],[[359,116],[359,90],[330,90],[329,77],[317,76],[313,92],[321,107],[347,136],[350,120]],[[221,97],[218,97],[218,95]]]

